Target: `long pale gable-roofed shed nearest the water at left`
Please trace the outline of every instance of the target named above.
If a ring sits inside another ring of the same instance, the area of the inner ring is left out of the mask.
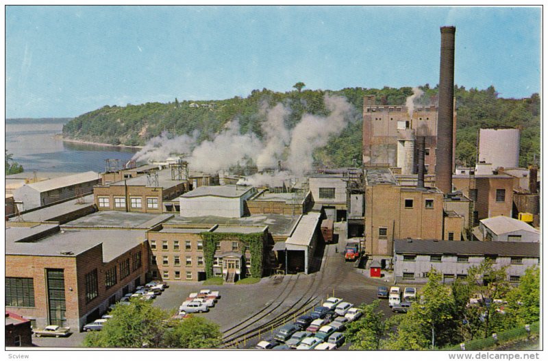
[[[23,184],[13,191],[19,211],[31,210],[65,199],[82,197],[93,192],[93,187],[101,182],[95,172],[77,173],[42,182]]]

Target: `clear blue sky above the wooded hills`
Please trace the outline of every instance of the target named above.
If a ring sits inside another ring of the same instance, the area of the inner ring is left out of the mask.
[[[253,89],[417,86],[439,80],[454,25],[455,82],[540,91],[536,8],[8,6],[5,116],[246,97]]]

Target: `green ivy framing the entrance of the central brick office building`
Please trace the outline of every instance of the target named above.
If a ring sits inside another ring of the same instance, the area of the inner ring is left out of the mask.
[[[249,253],[251,254],[251,277],[262,277],[262,263],[264,259],[264,233],[219,233],[219,232],[202,232],[200,234],[203,240],[203,260],[206,264],[206,277],[213,276],[213,260],[215,256],[216,242],[221,240],[239,240],[244,245],[249,245]],[[245,276],[242,273],[240,277]]]

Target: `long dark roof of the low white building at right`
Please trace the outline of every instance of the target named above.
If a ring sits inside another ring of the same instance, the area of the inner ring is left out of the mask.
[[[459,240],[395,240],[395,253],[461,254],[475,256],[540,256],[540,245],[532,242],[479,242]]]

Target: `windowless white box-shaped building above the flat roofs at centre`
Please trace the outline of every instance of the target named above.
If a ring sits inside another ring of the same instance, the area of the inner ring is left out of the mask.
[[[256,193],[247,186],[201,186],[179,197],[181,216],[238,218],[245,214],[245,201]]]

